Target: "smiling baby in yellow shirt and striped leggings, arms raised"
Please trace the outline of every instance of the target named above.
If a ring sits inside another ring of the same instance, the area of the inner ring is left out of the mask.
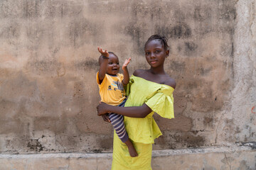
[[[114,55],[113,52],[102,50],[100,47],[98,47],[98,51],[101,55],[99,58],[100,69],[97,72],[96,79],[100,88],[101,101],[113,106],[123,107],[126,101],[124,86],[129,83],[127,65],[131,61],[131,58],[125,60],[122,65],[124,74],[119,74],[119,60],[117,55]],[[108,116],[119,139],[127,145],[131,157],[137,157],[136,149],[129,140],[129,136],[124,128],[123,116],[116,113],[109,113]],[[103,118],[106,120],[106,115]]]

